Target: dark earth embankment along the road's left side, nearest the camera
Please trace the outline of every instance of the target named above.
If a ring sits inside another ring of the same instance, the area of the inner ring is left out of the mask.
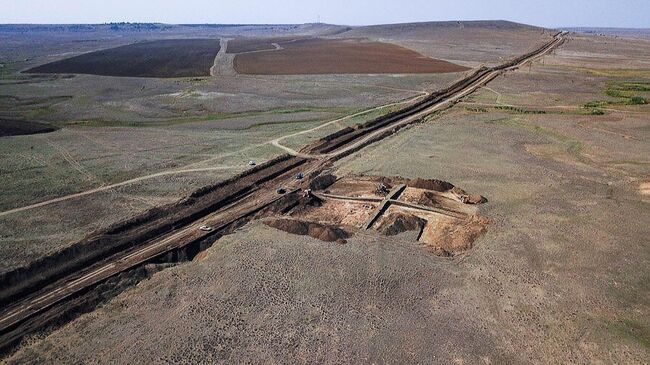
[[[258,184],[300,166],[305,160],[282,155],[233,178],[207,186],[168,206],[153,208],[133,219],[91,234],[65,250],[30,265],[0,274],[0,304],[15,302],[76,270],[125,249],[190,224],[251,193]]]

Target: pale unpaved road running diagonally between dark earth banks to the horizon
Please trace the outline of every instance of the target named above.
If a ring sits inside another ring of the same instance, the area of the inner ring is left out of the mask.
[[[37,317],[39,313],[45,312],[48,308],[64,299],[92,287],[93,285],[120,272],[134,268],[143,262],[160,256],[171,249],[182,247],[191,241],[200,239],[201,237],[207,238],[212,233],[206,233],[199,230],[198,227],[201,225],[225,227],[229,222],[241,219],[244,216],[250,215],[251,212],[255,212],[268,206],[278,199],[278,195],[274,188],[275,186],[283,186],[288,191],[300,186],[300,182],[296,181],[294,178],[296,170],[304,172],[305,176],[309,176],[310,172],[318,171],[329,161],[336,159],[343,153],[358,150],[365,144],[373,141],[373,138],[377,138],[391,129],[397,130],[400,126],[413,123],[425,115],[440,110],[441,108],[472,93],[477,88],[485,85],[501,73],[511,69],[516,69],[527,62],[545,55],[560,45],[562,41],[563,36],[557,35],[553,42],[549,42],[528,57],[520,60],[520,62],[509,67],[501,67],[492,69],[492,71],[486,71],[482,76],[473,79],[473,81],[466,84],[464,87],[460,89],[450,89],[448,94],[441,96],[443,97],[443,100],[430,105],[420,112],[415,114],[411,113],[408,117],[390,123],[386,127],[380,128],[366,135],[361,135],[362,138],[359,140],[352,140],[351,144],[343,145],[332,153],[310,156],[313,157],[312,160],[305,161],[302,165],[297,165],[297,168],[292,167],[283,171],[280,176],[272,178],[266,183],[256,184],[257,188],[240,196],[229,205],[223,206],[211,214],[200,217],[196,221],[187,224],[185,227],[172,230],[167,234],[162,234],[161,236],[147,242],[142,242],[128,252],[120,252],[114,256],[106,258],[103,262],[97,262],[94,265],[87,266],[85,269],[78,270],[74,274],[68,275],[67,277],[51,283],[44,289],[22,298],[10,305],[8,308],[5,308],[0,315],[0,346],[7,348],[7,346],[14,344],[17,339],[37,330],[38,327],[35,328],[33,324],[31,326],[21,327],[21,323],[24,323],[27,319],[35,316]],[[406,112],[407,111],[405,111],[405,113]]]

